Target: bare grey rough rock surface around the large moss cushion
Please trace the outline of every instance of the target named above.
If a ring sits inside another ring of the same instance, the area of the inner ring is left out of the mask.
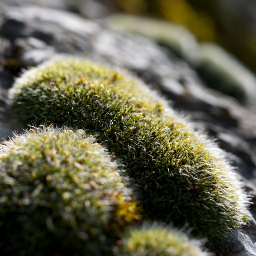
[[[102,23],[64,10],[0,1],[0,141],[18,129],[8,109],[8,90],[22,69],[37,66],[53,55],[87,57],[125,68],[162,93],[174,108],[190,116],[196,129],[217,138],[238,166],[245,190],[256,195],[254,111],[207,88],[186,61],[152,39],[115,32]],[[256,203],[255,198],[252,202]],[[251,225],[233,234],[221,256],[256,255],[254,204],[250,214]]]

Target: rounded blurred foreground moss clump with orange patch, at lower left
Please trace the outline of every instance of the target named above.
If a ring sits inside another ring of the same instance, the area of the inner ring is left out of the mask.
[[[118,165],[92,138],[50,130],[6,143],[0,153],[1,255],[10,255],[10,247],[16,255],[102,255],[124,224],[138,219]]]

